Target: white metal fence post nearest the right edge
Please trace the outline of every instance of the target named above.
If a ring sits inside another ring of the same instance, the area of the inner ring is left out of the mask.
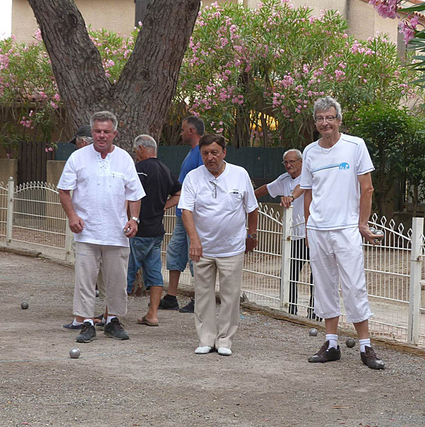
[[[410,254],[409,286],[409,324],[407,342],[417,345],[419,342],[419,321],[421,307],[421,234],[424,230],[424,218],[412,220],[412,251]]]

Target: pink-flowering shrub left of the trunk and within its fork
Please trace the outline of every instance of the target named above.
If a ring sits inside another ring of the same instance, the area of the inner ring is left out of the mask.
[[[91,40],[101,53],[106,76],[115,82],[134,47],[138,29],[129,38],[108,30],[91,30]],[[18,45],[12,36],[0,41],[0,144],[9,156],[16,142],[43,141],[52,151],[52,132],[67,131],[61,100],[40,30],[33,42]],[[65,134],[69,134],[65,132]],[[60,137],[61,138],[61,137]]]

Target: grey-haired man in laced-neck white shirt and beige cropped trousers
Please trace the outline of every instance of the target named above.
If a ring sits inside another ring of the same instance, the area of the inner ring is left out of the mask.
[[[145,196],[130,154],[113,145],[118,127],[115,115],[95,113],[90,125],[93,144],[72,153],[57,185],[69,228],[74,232],[74,314],[84,320],[77,336],[79,343],[96,339],[93,317],[100,264],[108,306],[104,334],[120,340],[129,338],[118,316],[127,313],[128,239],[137,232],[140,199]]]

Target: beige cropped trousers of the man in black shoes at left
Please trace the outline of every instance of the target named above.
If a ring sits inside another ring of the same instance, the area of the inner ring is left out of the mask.
[[[96,280],[102,265],[108,313],[127,314],[127,268],[130,248],[75,242],[74,315],[94,317]]]

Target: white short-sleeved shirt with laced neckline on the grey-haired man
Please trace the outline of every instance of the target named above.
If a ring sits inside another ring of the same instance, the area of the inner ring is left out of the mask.
[[[111,246],[130,246],[123,228],[128,221],[125,200],[145,197],[135,164],[128,152],[115,146],[102,159],[94,145],[69,157],[57,188],[74,190],[72,205],[84,221],[75,241]]]

